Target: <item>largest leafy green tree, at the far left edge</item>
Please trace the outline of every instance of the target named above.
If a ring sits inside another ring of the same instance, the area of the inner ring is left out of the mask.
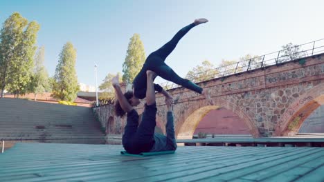
[[[0,85],[1,97],[5,89],[15,95],[24,94],[33,72],[39,24],[18,12],[3,23],[0,34]]]

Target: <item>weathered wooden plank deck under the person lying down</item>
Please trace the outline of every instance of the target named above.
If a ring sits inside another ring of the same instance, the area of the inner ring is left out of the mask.
[[[324,181],[324,148],[179,147],[123,156],[121,145],[17,143],[0,181]]]

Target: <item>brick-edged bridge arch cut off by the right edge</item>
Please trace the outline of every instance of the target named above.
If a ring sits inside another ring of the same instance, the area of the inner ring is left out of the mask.
[[[289,105],[276,124],[276,136],[289,136],[298,132],[302,123],[320,105],[324,104],[324,83],[316,85]]]

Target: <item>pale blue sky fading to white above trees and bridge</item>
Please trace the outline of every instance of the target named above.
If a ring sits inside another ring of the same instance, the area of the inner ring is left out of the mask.
[[[98,85],[108,73],[122,72],[129,39],[140,34],[145,56],[197,18],[208,23],[192,28],[165,63],[185,77],[202,61],[216,67],[246,54],[262,55],[324,38],[324,1],[318,0],[0,0],[0,23],[19,12],[41,28],[44,65],[53,76],[62,47],[77,50],[78,82]],[[165,82],[156,79],[157,83]]]

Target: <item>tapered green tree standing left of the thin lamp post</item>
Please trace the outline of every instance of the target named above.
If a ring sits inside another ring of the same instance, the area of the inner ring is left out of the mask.
[[[63,46],[60,59],[55,70],[55,83],[53,85],[53,97],[63,101],[71,101],[77,97],[80,90],[78,77],[75,72],[76,50],[71,42]]]

